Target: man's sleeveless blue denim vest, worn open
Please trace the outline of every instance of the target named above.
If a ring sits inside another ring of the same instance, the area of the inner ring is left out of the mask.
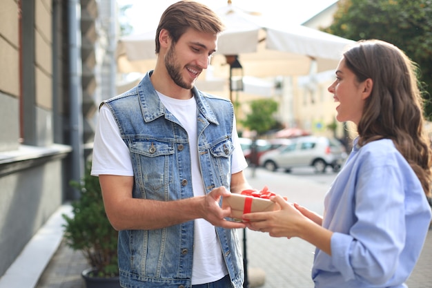
[[[150,81],[153,71],[126,93],[104,102],[130,150],[133,198],[172,201],[193,197],[188,135],[166,110]],[[193,88],[197,101],[199,166],[206,193],[230,189],[233,106]],[[193,115],[191,115],[193,117]],[[244,279],[234,229],[216,227],[233,287]],[[194,221],[155,230],[119,232],[119,272],[123,287],[191,287]]]

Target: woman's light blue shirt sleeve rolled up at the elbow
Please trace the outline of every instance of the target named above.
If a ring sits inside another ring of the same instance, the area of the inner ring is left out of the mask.
[[[383,164],[365,158],[356,177],[355,222],[349,234],[333,233],[332,261],[346,281],[381,285],[394,275],[405,245],[406,183],[394,155]]]

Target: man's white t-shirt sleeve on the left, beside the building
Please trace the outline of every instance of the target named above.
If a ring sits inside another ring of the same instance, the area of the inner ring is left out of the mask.
[[[128,146],[121,139],[119,127],[106,105],[99,111],[92,153],[91,175],[133,176]]]

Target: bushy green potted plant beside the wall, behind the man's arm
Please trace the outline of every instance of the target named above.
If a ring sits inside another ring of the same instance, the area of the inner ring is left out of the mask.
[[[71,203],[72,216],[63,214],[66,245],[82,251],[90,269],[83,271],[86,287],[120,287],[117,263],[118,231],[112,228],[105,213],[99,178],[90,175],[91,162],[80,182],[70,186],[79,190],[79,199]],[[108,282],[114,282],[108,285]],[[100,284],[101,283],[101,284]]]

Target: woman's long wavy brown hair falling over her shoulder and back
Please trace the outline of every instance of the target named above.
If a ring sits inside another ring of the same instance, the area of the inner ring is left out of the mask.
[[[344,53],[357,81],[373,80],[357,126],[360,146],[388,138],[431,195],[431,141],[424,131],[418,66],[402,50],[380,40],[359,41]]]

